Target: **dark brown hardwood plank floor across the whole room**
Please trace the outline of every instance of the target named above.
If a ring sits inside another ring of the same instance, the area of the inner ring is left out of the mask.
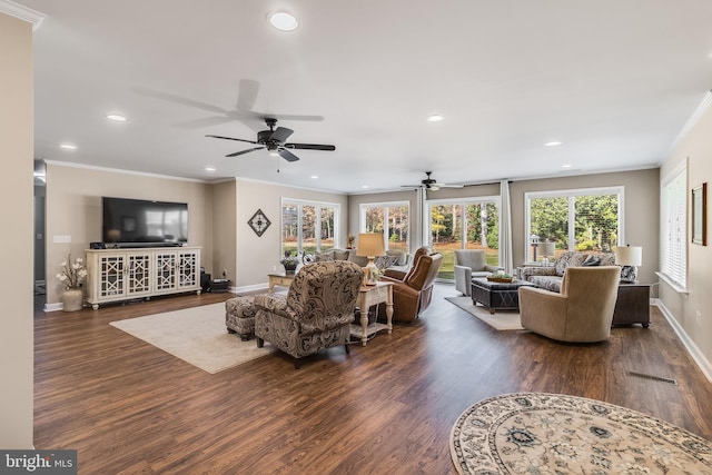
[[[564,345],[496,331],[451,295],[436,286],[419,320],[349,356],[332,348],[295,369],[268,355],[215,375],[109,321],[230,294],[37,311],[34,445],[77,449],[80,474],[454,474],[455,419],[514,392],[601,399],[712,439],[712,384],[656,307],[649,329]]]

